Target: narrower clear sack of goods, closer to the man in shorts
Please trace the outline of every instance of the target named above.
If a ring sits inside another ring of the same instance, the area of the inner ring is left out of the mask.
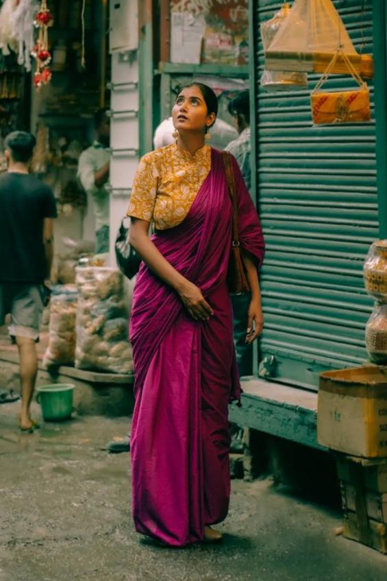
[[[43,365],[74,365],[75,317],[78,292],[75,285],[56,285],[50,302],[49,345]]]

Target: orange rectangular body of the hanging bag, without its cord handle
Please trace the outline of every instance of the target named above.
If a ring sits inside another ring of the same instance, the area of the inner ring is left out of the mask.
[[[312,93],[311,101],[315,125],[371,121],[370,95],[367,86],[355,91],[334,93],[317,91]]]

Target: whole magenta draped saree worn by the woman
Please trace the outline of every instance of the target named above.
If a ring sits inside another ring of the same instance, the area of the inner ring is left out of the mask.
[[[262,262],[255,208],[235,160],[240,243]],[[134,289],[130,340],[135,370],[131,432],[136,530],[168,545],[203,539],[229,505],[228,404],[240,398],[225,278],[232,205],[221,154],[185,220],[153,235],[163,256],[197,285],[214,315],[193,320],[176,292],[142,263]]]

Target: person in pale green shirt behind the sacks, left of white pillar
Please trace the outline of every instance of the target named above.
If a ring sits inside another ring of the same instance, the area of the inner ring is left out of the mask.
[[[110,199],[106,183],[110,171],[110,119],[106,111],[103,108],[95,113],[97,139],[79,157],[77,173],[88,199],[94,200],[96,254],[109,252]]]

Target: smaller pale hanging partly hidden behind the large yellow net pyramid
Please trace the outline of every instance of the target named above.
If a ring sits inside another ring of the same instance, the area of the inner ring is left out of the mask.
[[[261,25],[262,44],[268,49],[284,21],[290,14],[290,5],[285,2],[281,10],[276,12],[272,19]],[[281,91],[291,88],[305,88],[308,84],[306,73],[289,71],[266,71],[262,73],[261,86],[266,91]]]

